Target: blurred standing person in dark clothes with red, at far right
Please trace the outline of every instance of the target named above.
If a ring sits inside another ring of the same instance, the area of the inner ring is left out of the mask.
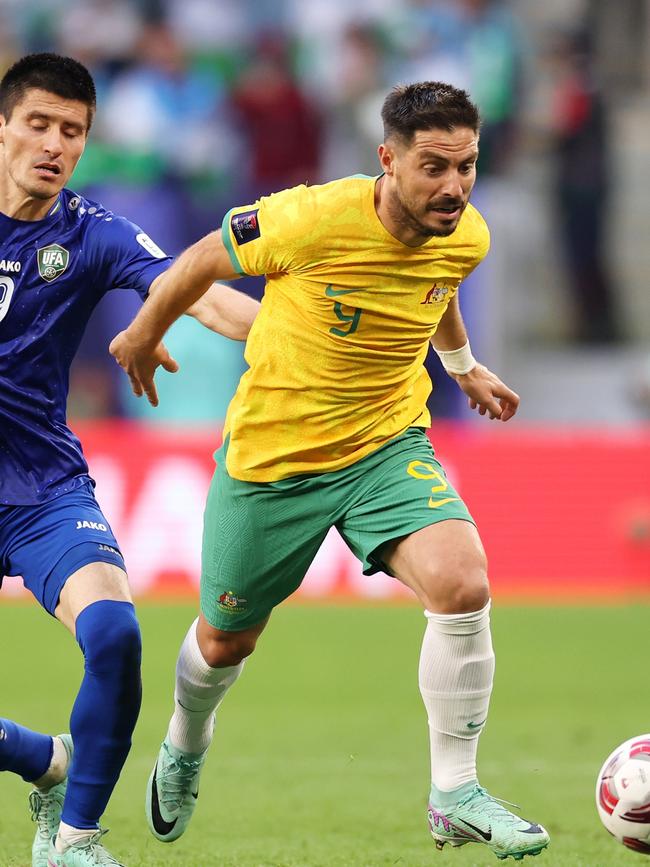
[[[562,34],[551,50],[555,93],[553,216],[575,307],[575,337],[603,343],[620,336],[606,262],[609,249],[607,107],[594,76],[586,36]]]

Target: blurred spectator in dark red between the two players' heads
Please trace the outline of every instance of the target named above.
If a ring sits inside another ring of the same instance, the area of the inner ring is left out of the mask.
[[[252,197],[320,181],[320,114],[291,70],[284,34],[258,38],[232,104],[250,153]]]

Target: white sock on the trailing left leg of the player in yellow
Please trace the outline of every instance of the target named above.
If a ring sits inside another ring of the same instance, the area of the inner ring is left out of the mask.
[[[196,638],[198,618],[190,626],[176,662],[174,714],[167,737],[183,753],[202,753],[212,740],[214,712],[244,667],[211,668]]]

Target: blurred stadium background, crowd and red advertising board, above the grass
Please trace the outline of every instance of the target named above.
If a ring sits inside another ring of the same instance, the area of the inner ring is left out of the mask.
[[[497,595],[641,591],[650,22],[641,0],[616,10],[604,0],[0,0],[0,67],[43,49],[89,65],[99,110],[71,186],[170,253],[233,204],[374,173],[393,83],[467,87],[484,117],[474,202],[492,250],[462,304],[475,354],[523,400],[497,429],[465,409],[432,358],[434,445],[482,528]],[[259,280],[238,285],[261,291]],[[210,456],[242,347],[178,323],[168,342],[182,371],[160,375],[151,410],[106,352],[137,305],[111,293],[96,311],[69,412],[136,592],[194,593]],[[8,581],[1,598],[20,592]],[[302,593],[404,595],[363,579],[336,534]]]

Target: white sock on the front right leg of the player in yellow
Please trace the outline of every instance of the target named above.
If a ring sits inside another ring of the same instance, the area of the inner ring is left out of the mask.
[[[476,779],[494,676],[490,603],[469,614],[424,613],[419,683],[429,717],[431,781],[450,792]]]

